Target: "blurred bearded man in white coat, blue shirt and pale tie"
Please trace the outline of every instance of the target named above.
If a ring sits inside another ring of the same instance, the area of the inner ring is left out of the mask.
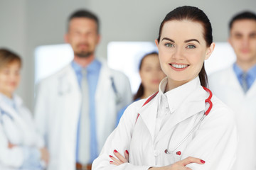
[[[74,60],[39,84],[36,121],[50,152],[48,169],[90,169],[132,93],[124,74],[95,57],[100,42],[95,14],[75,11],[65,41]]]

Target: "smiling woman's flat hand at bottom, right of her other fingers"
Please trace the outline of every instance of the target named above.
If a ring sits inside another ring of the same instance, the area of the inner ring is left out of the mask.
[[[195,157],[187,157],[186,159],[182,159],[181,161],[169,166],[151,167],[149,170],[191,170],[190,168],[186,167],[186,165],[191,163],[205,164],[206,162]]]

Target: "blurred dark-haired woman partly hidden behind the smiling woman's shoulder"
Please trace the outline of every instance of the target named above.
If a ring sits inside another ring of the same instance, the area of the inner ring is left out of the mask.
[[[139,76],[142,79],[142,83],[139,85],[139,89],[134,95],[134,101],[147,98],[151,94],[154,94],[159,89],[160,81],[166,77],[164,72],[161,70],[157,52],[151,52],[142,57],[142,60],[139,63]],[[127,106],[119,111],[117,125],[126,108]]]

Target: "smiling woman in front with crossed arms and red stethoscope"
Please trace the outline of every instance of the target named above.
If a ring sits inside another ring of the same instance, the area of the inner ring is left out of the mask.
[[[157,94],[127,108],[92,169],[231,169],[233,113],[202,87],[203,63],[215,46],[208,17],[192,6],[174,9],[162,21],[156,45],[167,77]]]

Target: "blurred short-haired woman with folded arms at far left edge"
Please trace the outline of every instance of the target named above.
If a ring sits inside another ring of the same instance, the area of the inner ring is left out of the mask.
[[[0,49],[0,169],[40,170],[48,164],[48,152],[30,111],[14,94],[20,70],[21,58]]]

